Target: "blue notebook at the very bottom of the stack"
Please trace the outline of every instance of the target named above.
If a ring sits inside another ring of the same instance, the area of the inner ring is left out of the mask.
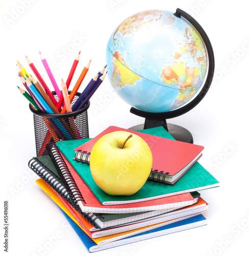
[[[150,231],[136,234],[128,238],[117,240],[104,245],[97,245],[62,209],[61,211],[63,212],[64,216],[66,217],[70,225],[73,227],[74,231],[78,233],[78,236],[80,237],[84,245],[88,248],[89,252],[105,250],[105,249],[113,248],[116,246],[134,243],[137,241],[150,239],[154,237],[159,237],[159,236],[163,236],[164,234],[187,230],[187,229],[191,229],[194,227],[199,227],[207,224],[206,218],[203,215],[198,215],[186,220],[178,221],[163,227],[155,228]]]

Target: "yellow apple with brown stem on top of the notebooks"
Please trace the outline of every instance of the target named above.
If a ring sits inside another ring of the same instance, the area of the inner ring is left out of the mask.
[[[109,195],[135,194],[147,180],[151,169],[150,147],[136,134],[123,131],[109,133],[92,147],[92,177]]]

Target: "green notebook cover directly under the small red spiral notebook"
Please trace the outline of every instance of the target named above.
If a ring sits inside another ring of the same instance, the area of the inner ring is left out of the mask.
[[[162,127],[139,132],[172,139]],[[59,141],[56,145],[102,204],[138,202],[144,201],[144,198],[155,199],[218,186],[219,182],[200,163],[196,162],[174,185],[147,180],[143,187],[132,196],[110,196],[96,185],[92,178],[89,164],[73,160],[75,156],[74,148],[84,144],[88,140],[90,139]],[[82,194],[84,197],[84,193]]]

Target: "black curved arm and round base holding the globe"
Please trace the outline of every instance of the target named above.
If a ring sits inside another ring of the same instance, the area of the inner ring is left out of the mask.
[[[200,24],[198,24],[198,22],[193,17],[191,17],[188,13],[186,13],[185,11],[179,8],[177,8],[174,15],[178,18],[186,19],[198,31],[198,33],[201,35],[204,41],[204,44],[207,50],[207,56],[208,56],[208,71],[207,71],[207,78],[206,78],[205,84],[203,88],[200,90],[200,92],[195,96],[195,98],[193,98],[188,104],[183,105],[181,108],[176,110],[163,112],[163,113],[150,113],[150,112],[140,111],[132,107],[130,112],[137,116],[144,117],[145,122],[144,122],[144,125],[142,124],[136,125],[131,127],[130,129],[133,131],[137,131],[142,129],[163,126],[169,132],[169,134],[176,140],[193,143],[192,135],[187,129],[176,124],[169,124],[169,123],[167,124],[166,119],[185,114],[186,112],[193,109],[204,98],[213,80],[214,53],[213,53],[211,42],[205,30],[202,28]]]

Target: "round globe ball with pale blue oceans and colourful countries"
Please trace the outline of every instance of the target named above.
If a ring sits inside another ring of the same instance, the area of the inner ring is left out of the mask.
[[[200,34],[186,19],[164,10],[125,19],[108,41],[106,59],[115,92],[133,108],[150,113],[182,108],[207,74]]]

